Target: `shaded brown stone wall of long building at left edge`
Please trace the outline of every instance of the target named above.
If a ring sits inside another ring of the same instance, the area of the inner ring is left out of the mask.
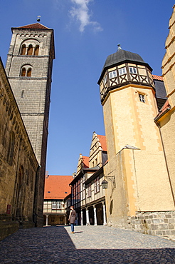
[[[1,63],[1,61],[0,61]],[[0,239],[33,227],[38,162],[0,64]]]

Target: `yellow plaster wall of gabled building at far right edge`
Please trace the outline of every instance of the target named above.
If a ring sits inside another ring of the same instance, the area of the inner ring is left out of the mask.
[[[171,111],[168,111],[168,113],[160,118],[158,123],[161,128],[169,177],[171,178],[171,185],[175,196],[175,5],[173,8],[173,13],[169,19],[169,35],[165,43],[166,53],[161,67]]]

